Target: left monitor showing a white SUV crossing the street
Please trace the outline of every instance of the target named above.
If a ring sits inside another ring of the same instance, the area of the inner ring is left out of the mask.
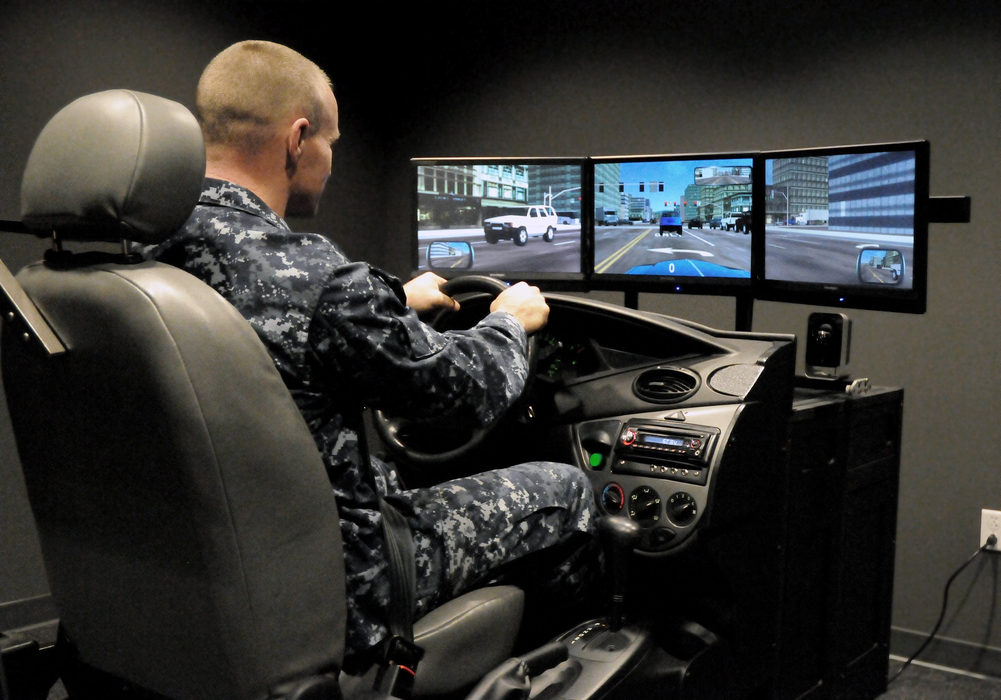
[[[414,270],[583,288],[592,216],[586,158],[410,163]]]

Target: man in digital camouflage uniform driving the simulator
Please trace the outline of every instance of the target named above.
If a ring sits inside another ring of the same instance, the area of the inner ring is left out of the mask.
[[[404,285],[321,235],[292,232],[283,216],[315,212],[339,132],[328,79],[291,49],[249,41],[223,51],[199,81],[198,112],[204,191],[181,230],[146,252],[199,277],[250,321],[313,434],[344,542],[345,667],[362,667],[363,652],[387,635],[390,585],[370,484],[413,534],[414,619],[527,555],[549,555],[548,576],[536,578],[554,601],[578,600],[597,559],[595,499],[580,470],[531,463],[403,491],[359,448],[366,406],[470,427],[503,414],[525,386],[527,329],[549,312],[539,290],[520,283],[473,328],[441,333],[417,319],[457,306],[440,277]]]

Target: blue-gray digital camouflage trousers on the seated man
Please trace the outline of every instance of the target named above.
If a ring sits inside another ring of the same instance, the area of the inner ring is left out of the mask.
[[[414,619],[490,583],[518,583],[568,606],[588,597],[599,575],[595,497],[575,467],[530,462],[387,500],[413,532]],[[522,562],[532,566],[520,570]]]

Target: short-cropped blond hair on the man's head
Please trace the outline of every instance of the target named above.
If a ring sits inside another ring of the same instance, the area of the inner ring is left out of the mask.
[[[322,87],[330,78],[287,46],[240,41],[211,60],[198,80],[198,122],[205,143],[256,152],[291,114],[323,126]]]

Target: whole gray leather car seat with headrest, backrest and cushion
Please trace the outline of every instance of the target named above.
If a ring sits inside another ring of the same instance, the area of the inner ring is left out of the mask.
[[[88,95],[38,137],[24,223],[54,248],[156,243],[190,214],[204,167],[180,104]],[[84,667],[172,700],[303,697],[336,678],[344,648],[315,444],[249,323],[195,277],[123,250],[53,250],[0,274],[3,381],[64,639]],[[494,587],[417,621],[415,694],[506,659],[522,608],[520,590]]]

